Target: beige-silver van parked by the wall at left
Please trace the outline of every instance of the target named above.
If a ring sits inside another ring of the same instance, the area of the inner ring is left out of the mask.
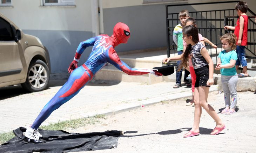
[[[29,92],[47,88],[50,59],[40,39],[24,34],[0,13],[0,87],[21,83]]]

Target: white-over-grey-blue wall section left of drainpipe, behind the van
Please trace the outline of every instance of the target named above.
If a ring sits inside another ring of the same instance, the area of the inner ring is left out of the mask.
[[[51,71],[67,72],[81,41],[93,37],[90,0],[76,0],[75,6],[41,6],[40,0],[12,0],[13,7],[0,7],[25,34],[42,41],[50,55]],[[88,48],[82,57],[89,56]]]

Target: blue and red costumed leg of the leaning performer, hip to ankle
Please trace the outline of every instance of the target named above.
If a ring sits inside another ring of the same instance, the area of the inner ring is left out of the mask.
[[[76,68],[69,76],[68,81],[61,87],[55,96],[43,107],[38,117],[35,119],[31,128],[38,127],[45,121],[50,114],[58,109],[62,104],[69,101],[90,81],[89,73],[82,67]]]

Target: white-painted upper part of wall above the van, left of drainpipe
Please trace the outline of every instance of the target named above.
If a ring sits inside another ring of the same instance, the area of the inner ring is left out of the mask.
[[[12,0],[12,5],[0,13],[21,29],[92,31],[90,0],[75,0],[75,6],[42,7],[40,0]]]

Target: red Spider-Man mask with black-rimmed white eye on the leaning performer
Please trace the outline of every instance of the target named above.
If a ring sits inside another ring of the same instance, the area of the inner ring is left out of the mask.
[[[122,23],[118,22],[116,23],[114,29],[113,29],[113,41],[115,41],[118,44],[121,43],[127,43],[128,39],[130,38],[130,29],[129,27]]]

